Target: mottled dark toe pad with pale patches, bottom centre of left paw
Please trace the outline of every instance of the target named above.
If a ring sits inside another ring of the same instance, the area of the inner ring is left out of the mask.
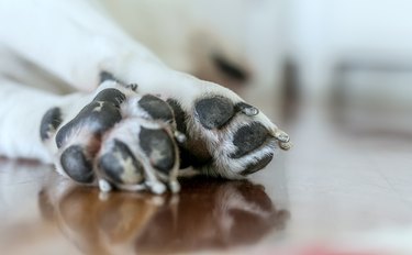
[[[124,143],[115,140],[110,153],[100,157],[101,171],[118,184],[133,185],[143,180],[143,166]]]

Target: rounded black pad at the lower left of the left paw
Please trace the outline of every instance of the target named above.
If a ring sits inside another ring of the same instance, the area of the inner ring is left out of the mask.
[[[60,156],[60,164],[71,179],[81,184],[93,181],[91,162],[86,157],[82,147],[73,145],[66,148]]]

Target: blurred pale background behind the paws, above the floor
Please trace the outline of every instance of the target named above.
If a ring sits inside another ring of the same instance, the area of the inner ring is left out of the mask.
[[[332,101],[338,117],[357,127],[408,136],[408,0],[103,2],[131,35],[176,69],[246,98],[269,95],[279,110],[298,97]]]

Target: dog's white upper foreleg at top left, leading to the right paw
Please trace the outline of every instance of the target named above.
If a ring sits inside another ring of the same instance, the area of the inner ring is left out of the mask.
[[[93,90],[101,69],[162,65],[87,0],[0,0],[0,42],[79,90]],[[132,60],[133,59],[133,60]],[[24,75],[24,74],[23,74]]]

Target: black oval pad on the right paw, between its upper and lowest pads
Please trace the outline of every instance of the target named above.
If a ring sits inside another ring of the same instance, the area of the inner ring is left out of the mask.
[[[242,126],[233,136],[233,144],[237,147],[231,157],[240,158],[261,146],[269,138],[268,130],[258,122]]]

